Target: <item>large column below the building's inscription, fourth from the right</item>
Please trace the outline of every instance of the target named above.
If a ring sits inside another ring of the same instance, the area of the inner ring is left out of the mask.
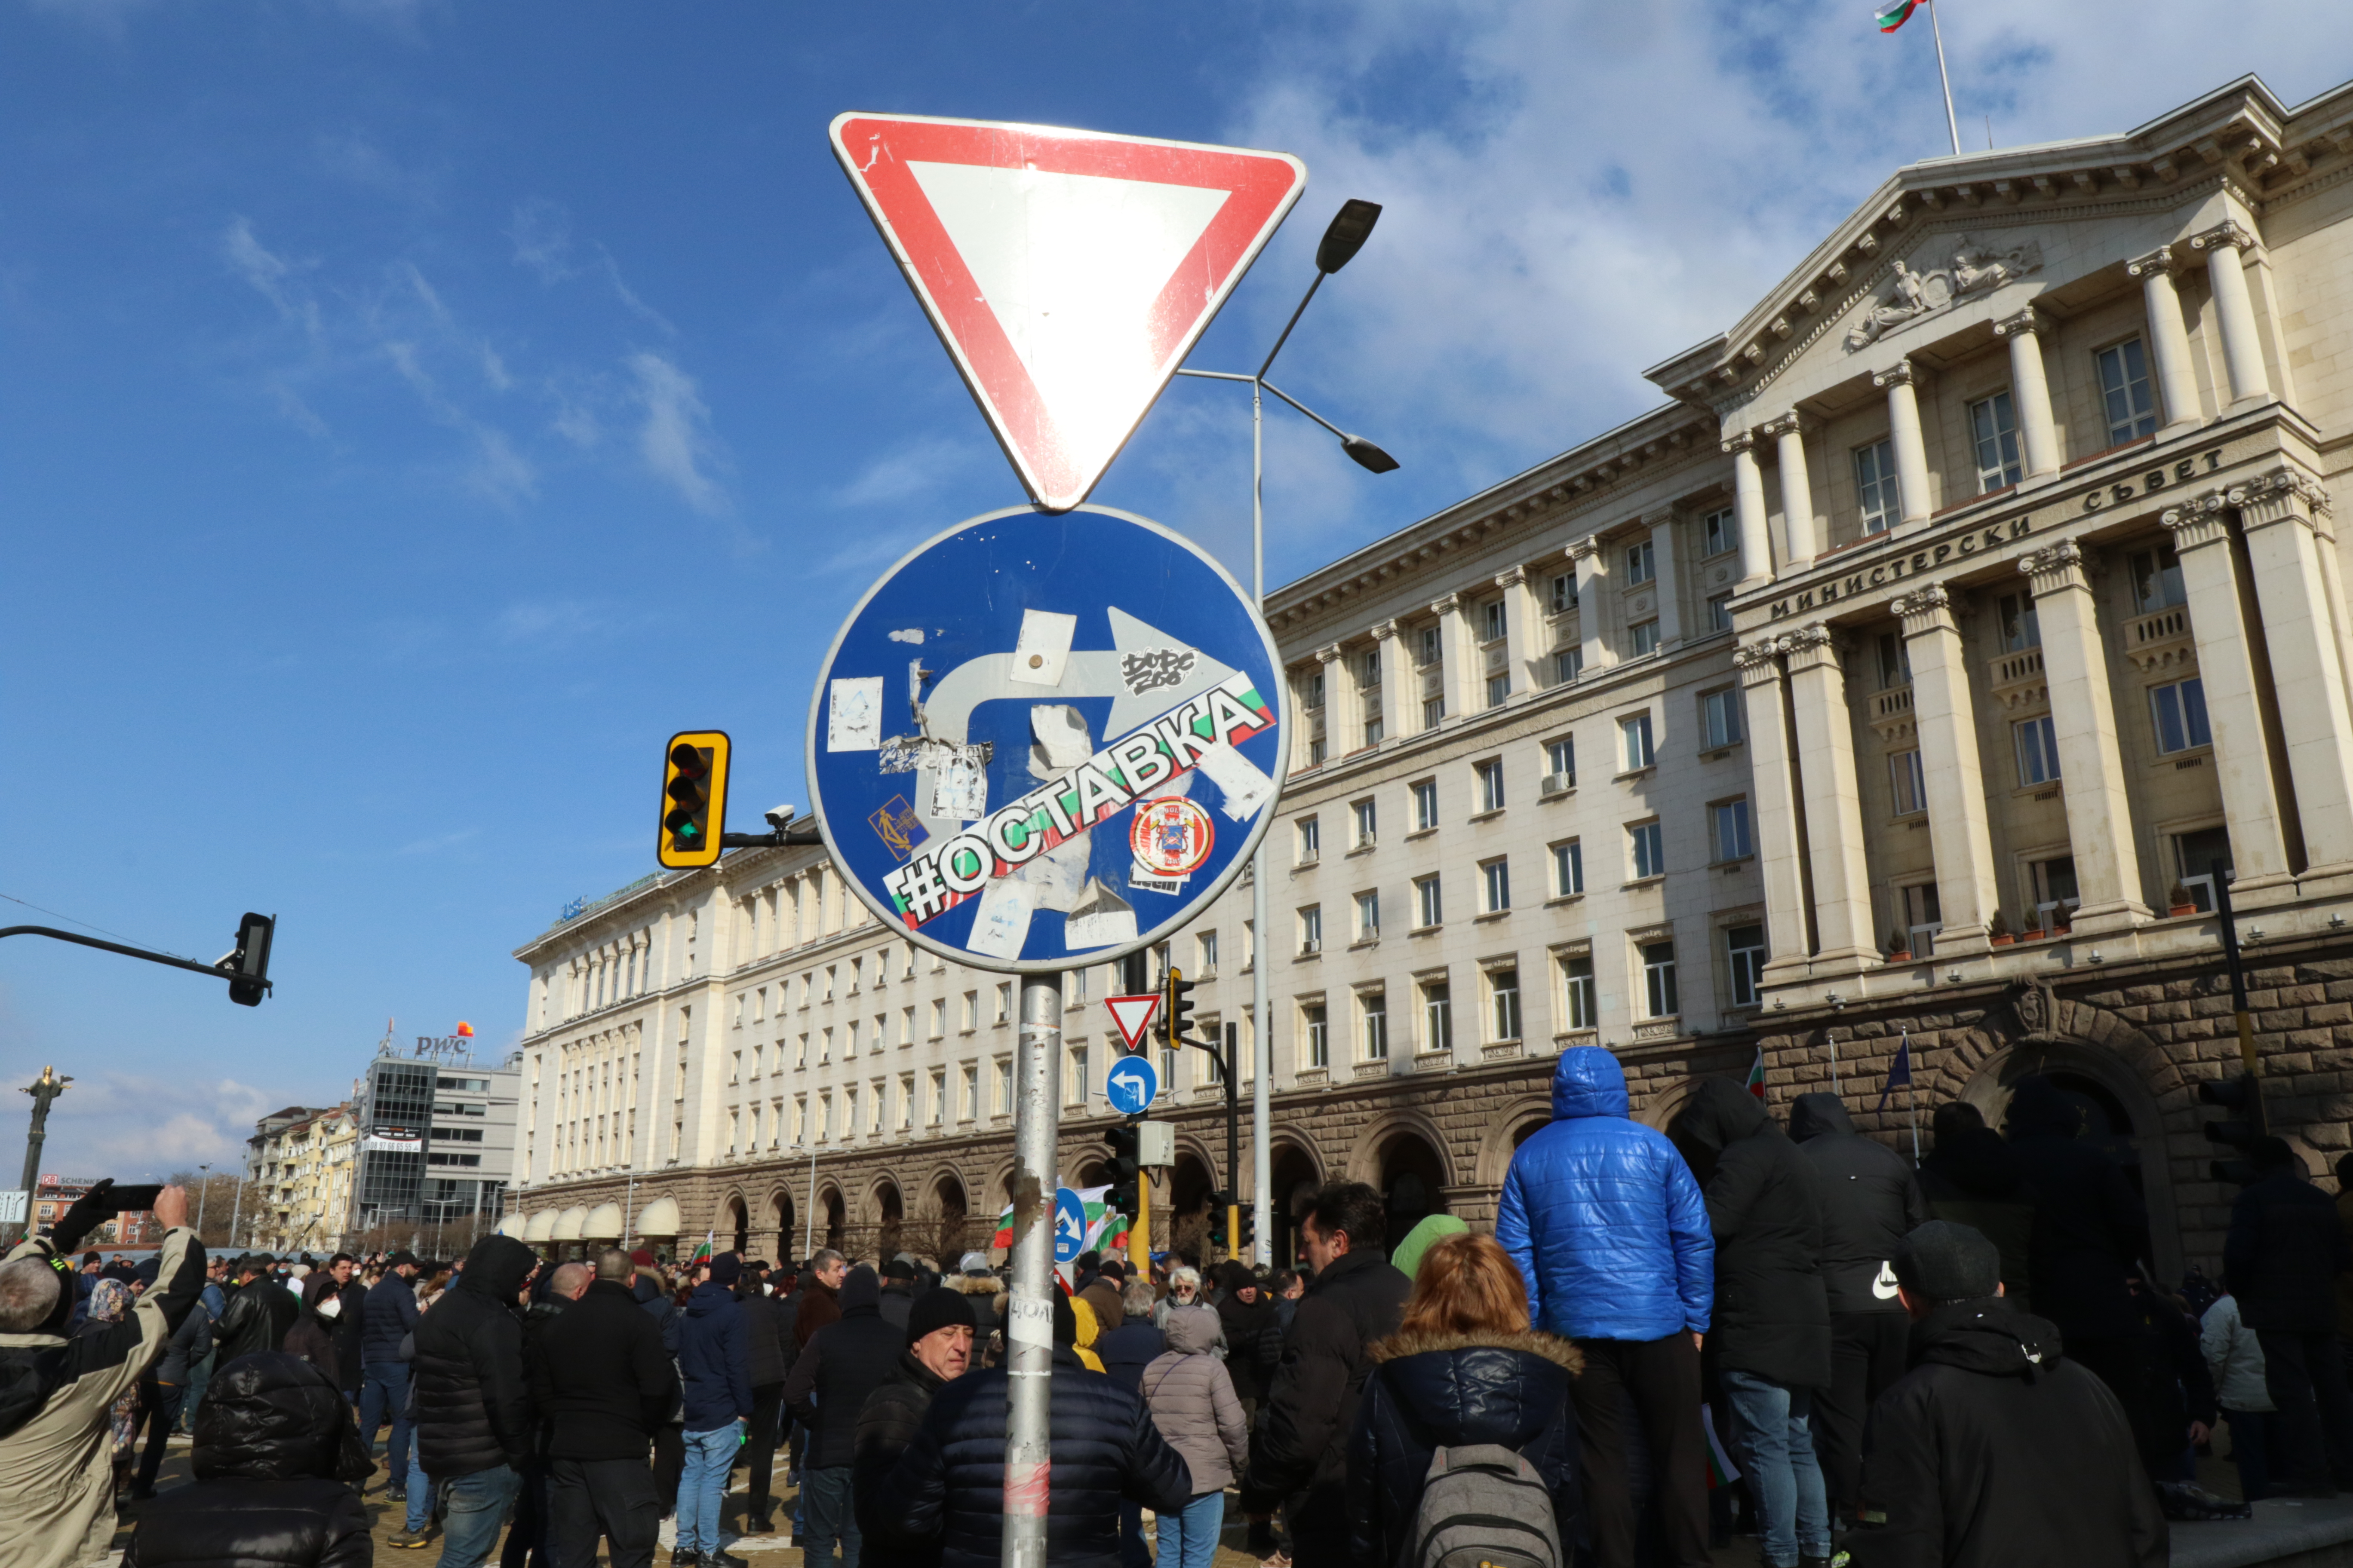
[[[1991,952],[1986,922],[2000,903],[1993,835],[1986,830],[1986,773],[1977,755],[1969,658],[1953,623],[1953,597],[1929,583],[1892,604],[1904,621],[1913,668],[1913,726],[1927,780],[1927,839],[1937,856],[1939,959]]]

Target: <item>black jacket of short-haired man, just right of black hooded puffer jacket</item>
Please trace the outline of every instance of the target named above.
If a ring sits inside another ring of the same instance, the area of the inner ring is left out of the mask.
[[[661,1326],[612,1279],[591,1281],[532,1335],[527,1366],[532,1406],[553,1427],[551,1460],[642,1460],[678,1408],[678,1366],[661,1349]]]

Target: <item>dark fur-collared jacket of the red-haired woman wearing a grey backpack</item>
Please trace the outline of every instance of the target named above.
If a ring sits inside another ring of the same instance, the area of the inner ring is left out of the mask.
[[[1421,1507],[1435,1448],[1501,1443],[1553,1493],[1560,1544],[1577,1542],[1577,1347],[1548,1333],[1393,1335],[1372,1347],[1348,1439],[1348,1549],[1395,1563]]]

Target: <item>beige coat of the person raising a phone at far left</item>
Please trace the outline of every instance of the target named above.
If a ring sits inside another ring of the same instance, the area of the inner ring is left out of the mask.
[[[54,1255],[47,1241],[24,1241],[16,1258]],[[73,1281],[59,1274],[68,1293]],[[106,1559],[115,1537],[115,1474],[108,1408],[162,1354],[172,1328],[205,1286],[205,1248],[193,1229],[162,1239],[155,1286],[129,1316],[78,1340],[54,1333],[0,1333],[5,1349],[64,1349],[64,1382],[40,1413],[0,1439],[0,1563],[7,1568],[82,1568]]]

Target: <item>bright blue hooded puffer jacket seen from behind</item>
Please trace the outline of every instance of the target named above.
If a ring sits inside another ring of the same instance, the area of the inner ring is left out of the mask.
[[[1675,1147],[1626,1114],[1626,1072],[1600,1046],[1553,1067],[1553,1121],[1511,1157],[1494,1239],[1520,1265],[1546,1333],[1664,1340],[1706,1331],[1715,1241]]]

